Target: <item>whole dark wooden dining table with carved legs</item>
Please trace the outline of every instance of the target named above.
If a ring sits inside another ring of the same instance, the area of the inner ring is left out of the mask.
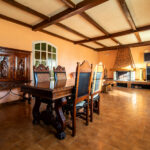
[[[33,124],[39,124],[40,120],[45,120],[46,123],[50,123],[55,127],[57,137],[64,139],[66,137],[66,119],[62,107],[67,103],[66,97],[74,97],[74,85],[74,79],[59,80],[57,82],[50,80],[50,82],[22,85],[21,91],[24,95],[29,94],[35,98],[32,110]],[[42,103],[47,104],[47,109],[40,112]]]

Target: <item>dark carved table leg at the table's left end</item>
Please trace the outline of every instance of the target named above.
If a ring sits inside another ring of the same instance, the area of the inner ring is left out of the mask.
[[[35,104],[33,107],[33,124],[39,124],[40,123],[40,112],[39,112],[39,108],[41,105],[41,101],[39,98],[35,97]]]

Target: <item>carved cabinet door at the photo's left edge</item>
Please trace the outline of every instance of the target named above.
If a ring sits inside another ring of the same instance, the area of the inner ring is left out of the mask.
[[[14,57],[12,55],[0,54],[0,81],[13,81],[14,79]]]

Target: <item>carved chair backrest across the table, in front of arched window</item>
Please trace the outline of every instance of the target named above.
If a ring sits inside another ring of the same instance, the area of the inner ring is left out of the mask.
[[[33,66],[34,83],[50,82],[49,68],[40,64],[38,67]]]

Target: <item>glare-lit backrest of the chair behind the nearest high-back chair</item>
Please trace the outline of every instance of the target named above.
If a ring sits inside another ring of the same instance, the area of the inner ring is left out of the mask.
[[[92,94],[101,91],[102,80],[103,80],[103,66],[99,64],[96,65],[93,73]]]

